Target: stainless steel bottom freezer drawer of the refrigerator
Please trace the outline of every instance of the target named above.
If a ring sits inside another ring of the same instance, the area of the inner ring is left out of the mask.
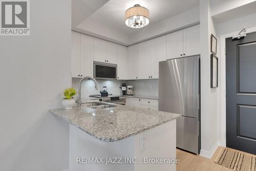
[[[181,116],[177,118],[177,147],[199,154],[199,120]]]

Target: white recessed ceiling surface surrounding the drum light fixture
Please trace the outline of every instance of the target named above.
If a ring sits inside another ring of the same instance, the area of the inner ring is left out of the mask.
[[[88,19],[131,34],[136,30],[124,24],[124,12],[135,4],[140,4],[150,11],[150,25],[153,25],[199,6],[199,0],[110,0]]]

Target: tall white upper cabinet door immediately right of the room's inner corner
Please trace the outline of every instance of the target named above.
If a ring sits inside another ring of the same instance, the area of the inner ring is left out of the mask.
[[[138,44],[128,47],[129,79],[139,79],[139,54]]]

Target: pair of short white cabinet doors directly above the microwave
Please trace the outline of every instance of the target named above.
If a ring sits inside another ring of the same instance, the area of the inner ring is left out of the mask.
[[[94,38],[93,60],[99,62],[117,63],[117,44]]]

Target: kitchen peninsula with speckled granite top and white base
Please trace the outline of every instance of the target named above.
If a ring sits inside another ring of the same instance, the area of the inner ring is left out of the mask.
[[[176,159],[176,118],[180,115],[101,104],[105,109],[85,103],[72,110],[50,110],[70,123],[70,170],[176,170],[175,164],[144,159]],[[86,164],[88,158],[104,162]]]

